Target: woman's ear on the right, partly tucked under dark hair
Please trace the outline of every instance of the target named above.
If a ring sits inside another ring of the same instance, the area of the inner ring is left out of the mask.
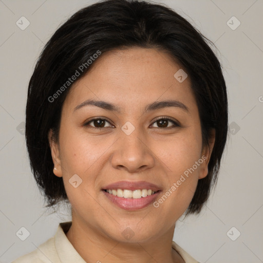
[[[208,175],[208,164],[214,148],[215,138],[216,138],[216,131],[213,128],[210,131],[209,145],[205,145],[202,148],[201,159],[203,160],[203,163],[200,165],[200,173],[198,179],[202,179]]]

